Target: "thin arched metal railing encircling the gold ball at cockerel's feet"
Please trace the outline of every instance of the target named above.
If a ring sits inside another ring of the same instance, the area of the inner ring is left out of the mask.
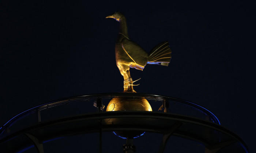
[[[77,115],[81,113],[87,113],[89,111],[92,111],[94,103],[97,101],[97,99],[102,99],[103,105],[107,105],[110,99],[117,98],[117,97],[131,97],[131,98],[145,98],[150,103],[153,111],[159,111],[159,107],[163,105],[165,109],[170,109],[170,111],[166,111],[167,113],[174,113],[174,114],[180,114],[180,115],[188,115],[192,117],[197,117],[201,119],[206,119],[211,122],[220,124],[218,118],[211,113],[209,110],[205,109],[202,106],[199,106],[195,103],[185,101],[179,98],[174,97],[166,97],[161,95],[153,95],[153,94],[142,94],[142,93],[105,93],[105,94],[91,94],[91,95],[82,95],[78,97],[71,97],[71,98],[65,98],[60,99],[53,102],[48,102],[36,107],[33,107],[31,109],[28,109],[26,111],[23,111],[22,113],[16,115],[15,117],[11,118],[7,123],[5,123],[2,127],[0,127],[0,138],[1,136],[10,133],[10,129],[12,126],[15,125],[18,121],[21,121],[22,119],[31,116],[36,118],[34,122],[41,122],[42,118],[46,116],[46,114],[43,110],[50,110],[52,108],[57,108],[56,106],[59,106],[58,109],[52,109],[54,112],[59,112],[57,117],[64,117],[66,115],[66,111],[64,110],[70,110],[71,107],[76,109],[71,110],[72,113],[69,112],[69,115]],[[166,102],[168,102],[168,105],[166,105]],[[72,106],[65,106],[65,104],[73,103]],[[84,106],[81,108],[81,104]],[[88,107],[90,106],[90,108]],[[166,108],[169,107],[169,108]],[[79,111],[77,109],[80,109]],[[186,111],[187,110],[187,111]],[[63,111],[63,112],[62,112]],[[94,109],[94,111],[97,111],[97,109]],[[161,110],[160,110],[161,111]],[[199,114],[197,114],[199,112]],[[43,114],[42,114],[43,113]],[[35,114],[35,115],[34,115]],[[200,116],[201,115],[201,116]],[[199,117],[200,116],[200,117]],[[53,116],[50,116],[50,118]],[[31,123],[33,119],[29,118],[27,122]],[[45,119],[43,119],[45,120]],[[24,122],[23,124],[26,124]],[[25,126],[25,125],[24,125]],[[19,127],[22,128],[22,127]],[[12,129],[12,132],[15,131]]]

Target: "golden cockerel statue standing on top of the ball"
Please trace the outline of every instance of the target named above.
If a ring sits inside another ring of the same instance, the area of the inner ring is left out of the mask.
[[[155,46],[148,54],[142,47],[129,39],[127,23],[121,12],[115,12],[106,18],[113,18],[120,22],[120,30],[116,41],[116,64],[121,75],[124,76],[124,92],[133,92],[133,81],[130,67],[143,70],[146,64],[160,64],[168,66],[171,59],[169,43],[163,42]]]

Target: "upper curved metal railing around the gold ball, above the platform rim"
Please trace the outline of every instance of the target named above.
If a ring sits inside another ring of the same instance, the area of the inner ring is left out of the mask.
[[[109,99],[114,98],[114,97],[133,97],[133,98],[135,98],[135,97],[144,97],[150,103],[153,111],[158,111],[158,108],[162,105],[162,102],[163,101],[168,101],[170,103],[169,104],[170,111],[168,113],[189,115],[189,116],[193,116],[193,117],[198,117],[198,116],[201,115],[199,117],[201,119],[207,119],[207,120],[212,121],[214,123],[220,124],[218,118],[213,113],[211,113],[209,110],[207,110],[204,107],[199,106],[195,103],[188,102],[188,101],[185,101],[185,100],[182,100],[182,99],[179,99],[179,98],[166,97],[166,96],[153,95],[153,94],[142,94],[142,93],[106,93],[106,94],[82,95],[82,96],[78,96],[78,97],[60,99],[60,100],[57,100],[57,101],[48,102],[48,103],[33,107],[31,109],[28,109],[26,111],[23,111],[22,113],[16,115],[12,119],[10,119],[2,127],[0,127],[0,137],[4,133],[9,133],[10,130],[8,130],[8,129],[10,129],[14,125],[14,123],[16,123],[17,121],[20,121],[21,119],[25,118],[26,116],[29,116],[30,114],[36,114],[37,118],[38,118],[37,121],[40,122],[41,121],[41,112],[42,112],[42,110],[45,110],[45,109],[48,110],[51,107],[55,107],[55,106],[59,106],[59,105],[61,106],[61,105],[67,104],[67,103],[81,102],[81,101],[83,101],[83,104],[84,104],[84,101],[87,101],[86,104],[87,105],[90,104],[90,106],[92,106],[94,101],[97,98],[103,99],[103,105],[104,104],[108,105],[108,102],[110,101]],[[179,106],[177,106],[177,104],[179,104]],[[79,107],[79,106],[77,106],[77,107]],[[184,108],[189,108],[189,109],[196,110],[196,111],[194,112],[194,111],[189,110],[191,113],[186,114],[189,111],[184,112]],[[200,112],[200,115],[197,114],[196,112]],[[86,109],[83,113],[86,113]],[[75,114],[72,114],[72,115],[75,115]]]

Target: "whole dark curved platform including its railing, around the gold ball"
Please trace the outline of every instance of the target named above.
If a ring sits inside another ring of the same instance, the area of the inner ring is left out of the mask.
[[[105,111],[104,106],[106,108],[113,98],[122,97],[129,100],[145,98],[153,112],[98,113]],[[212,150],[216,149],[221,152],[229,150],[248,153],[245,142],[235,133],[220,126],[218,118],[202,106],[179,98],[142,93],[82,95],[33,107],[0,127],[0,148],[10,152],[16,152],[17,149],[23,152],[34,146],[40,148],[41,144],[31,145],[30,140],[45,143],[72,134],[113,131],[161,133],[163,138],[177,136],[196,141],[206,149],[211,149],[212,153]],[[165,149],[168,138],[161,142],[164,145],[160,145],[159,152],[162,153]],[[13,145],[16,148],[12,147]]]

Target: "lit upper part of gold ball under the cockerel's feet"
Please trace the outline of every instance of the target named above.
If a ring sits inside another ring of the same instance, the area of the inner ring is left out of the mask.
[[[121,97],[113,98],[106,111],[152,111],[152,108],[145,98]]]

